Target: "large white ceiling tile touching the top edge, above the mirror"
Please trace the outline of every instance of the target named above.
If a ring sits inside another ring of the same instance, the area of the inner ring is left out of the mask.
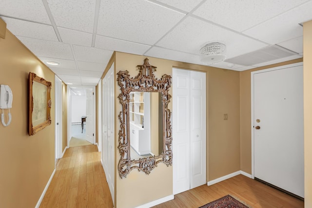
[[[184,16],[148,1],[102,0],[98,35],[153,45]]]

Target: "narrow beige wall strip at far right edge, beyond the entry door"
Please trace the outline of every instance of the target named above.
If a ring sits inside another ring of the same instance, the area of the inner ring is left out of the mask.
[[[303,24],[304,207],[312,208],[312,21]]]

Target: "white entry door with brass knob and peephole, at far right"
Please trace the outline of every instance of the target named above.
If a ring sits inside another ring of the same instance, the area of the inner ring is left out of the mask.
[[[252,78],[254,177],[304,197],[302,63]]]

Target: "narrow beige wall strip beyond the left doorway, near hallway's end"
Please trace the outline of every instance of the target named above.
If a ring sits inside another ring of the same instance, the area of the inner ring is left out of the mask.
[[[62,152],[67,146],[67,85],[62,82]]]

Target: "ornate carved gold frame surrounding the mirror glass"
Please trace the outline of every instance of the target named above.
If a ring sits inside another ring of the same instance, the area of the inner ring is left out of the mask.
[[[117,81],[121,93],[118,95],[119,102],[122,105],[122,111],[118,118],[120,121],[120,130],[118,138],[118,149],[120,159],[118,171],[120,178],[126,177],[131,170],[137,169],[146,174],[150,174],[158,163],[172,165],[172,128],[170,123],[171,112],[168,109],[171,95],[168,93],[171,86],[171,76],[163,75],[157,79],[154,75],[155,66],[148,63],[145,58],[143,65],[137,65],[139,73],[136,77],[130,77],[128,71],[119,71]],[[147,158],[131,159],[130,157],[130,116],[129,102],[130,92],[159,92],[162,97],[162,115],[163,115],[163,151],[160,155]]]

